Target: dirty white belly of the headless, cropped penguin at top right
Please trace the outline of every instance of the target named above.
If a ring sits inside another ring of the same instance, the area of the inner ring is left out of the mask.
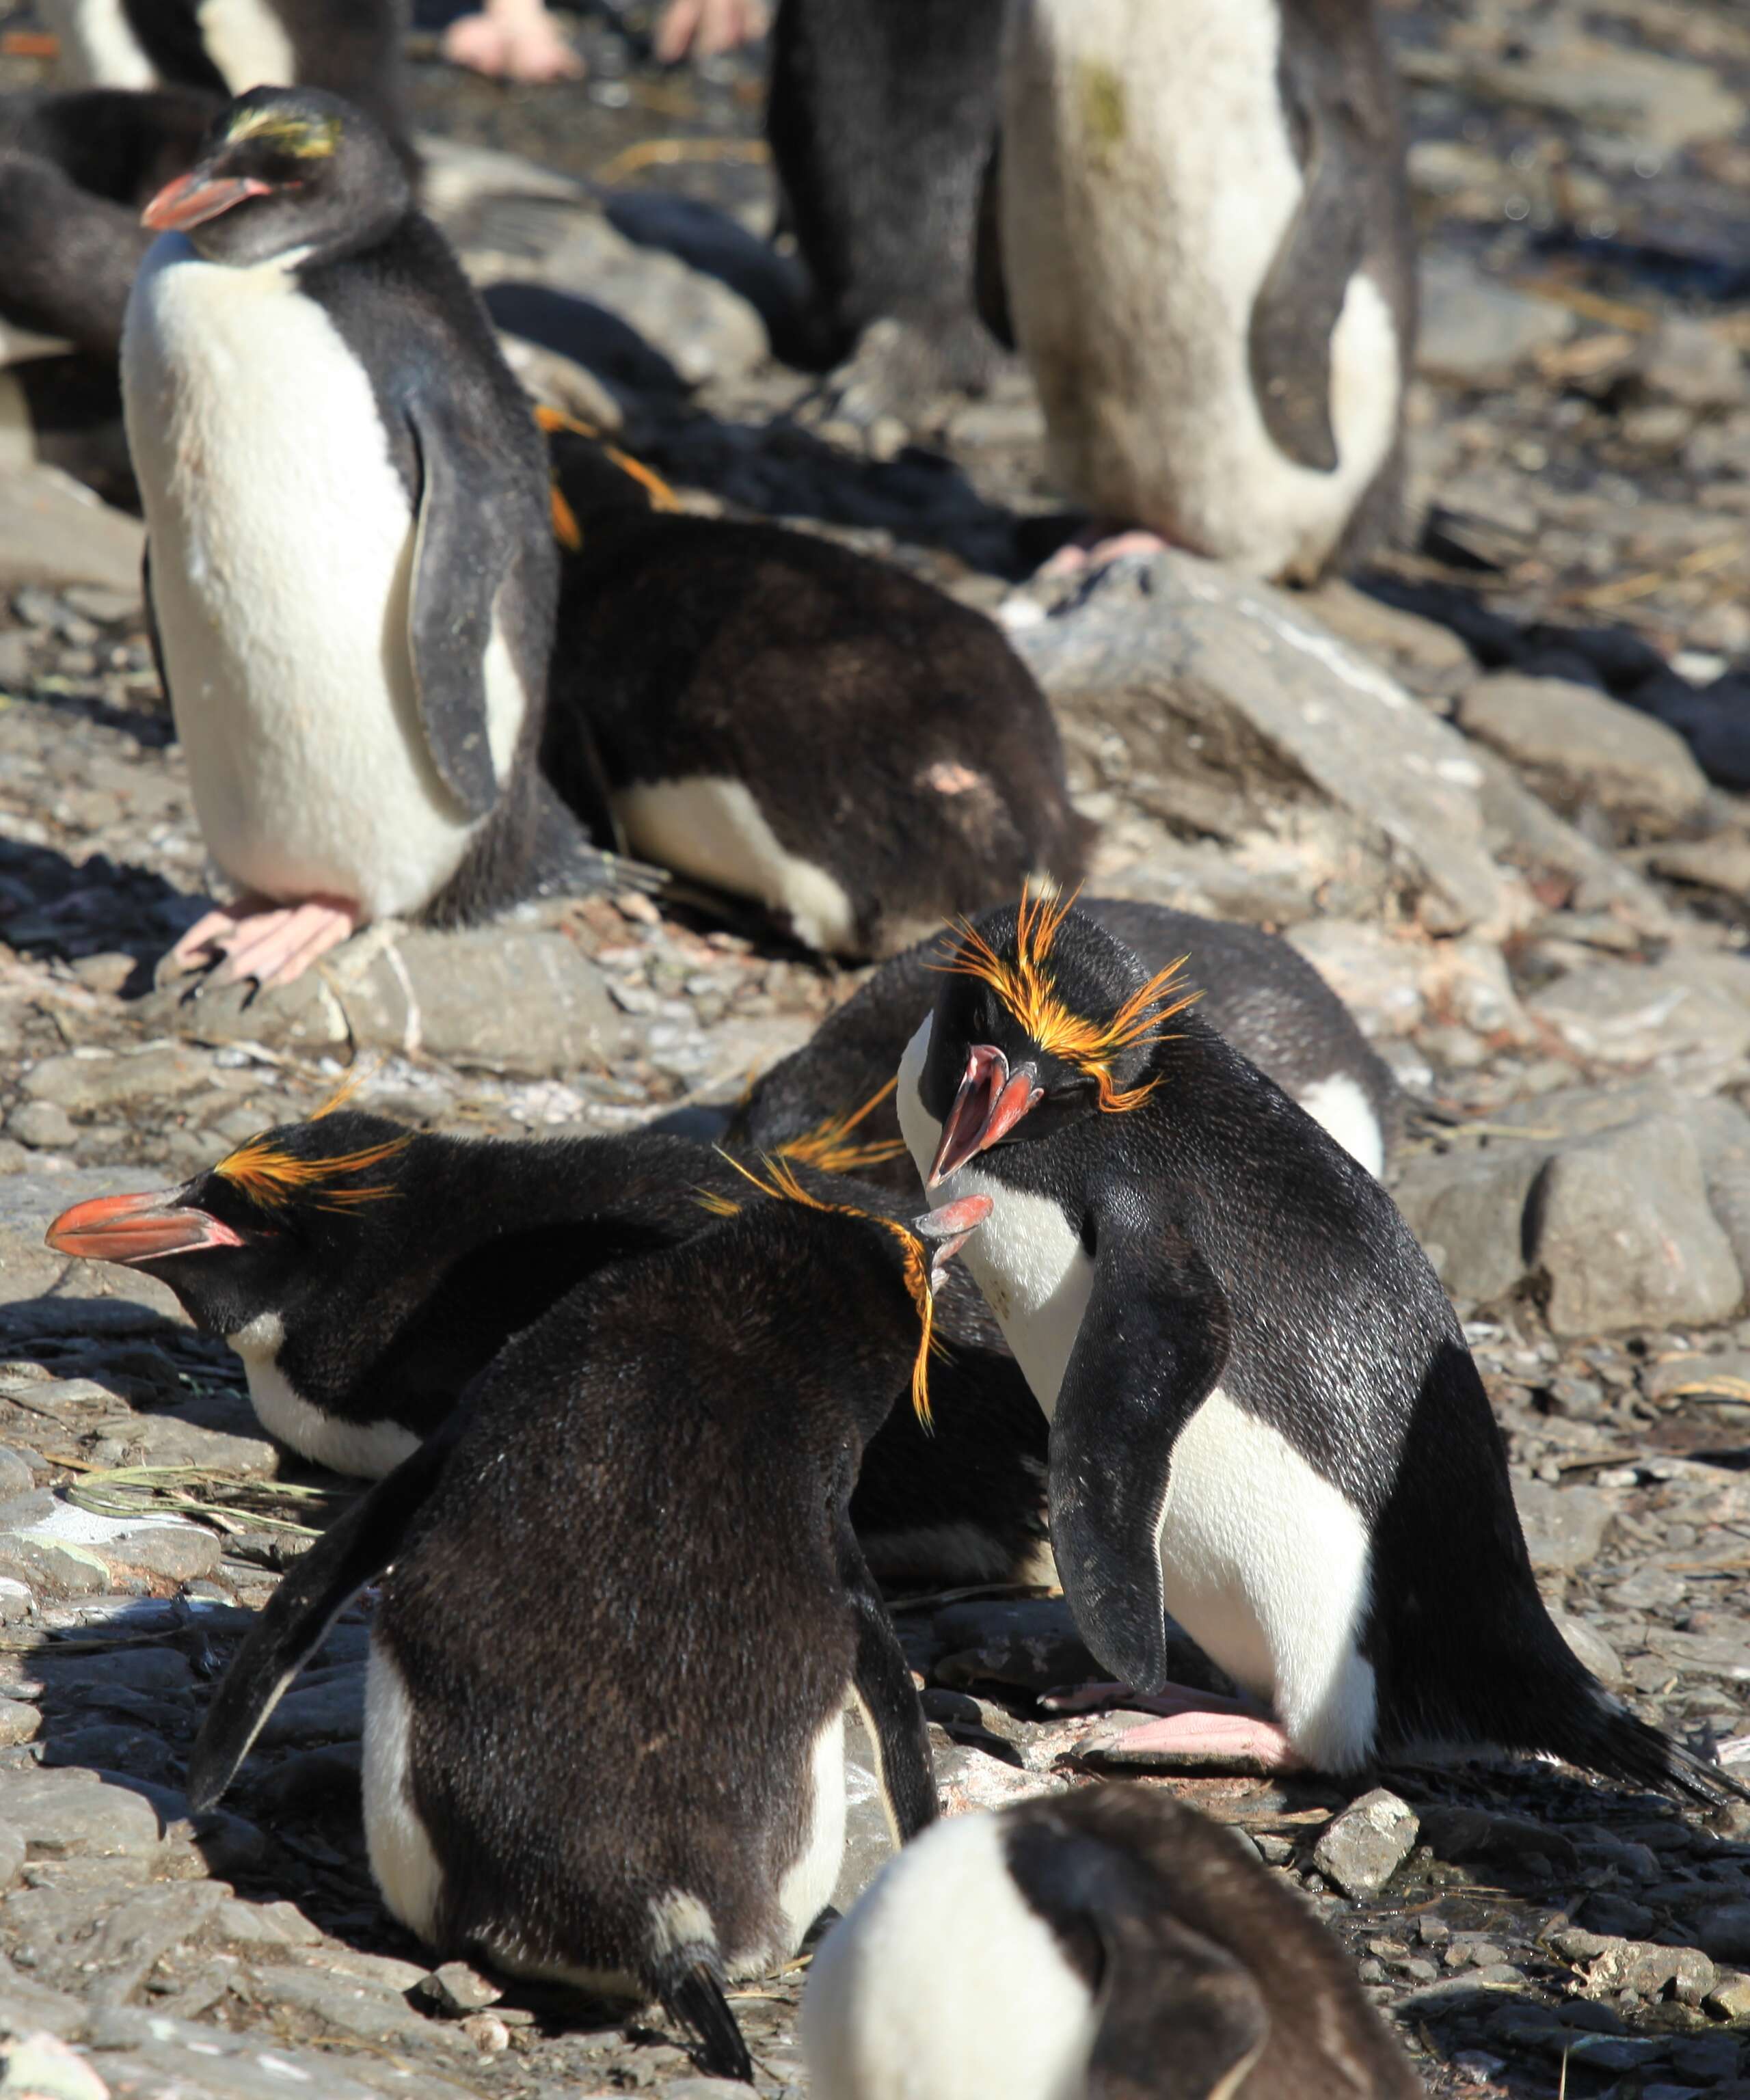
[[[1338,466],[1277,449],[1250,321],[1300,204],[1277,0],[1015,0],[1002,254],[1053,470],[1092,510],[1258,575],[1315,569],[1391,452],[1397,330],[1355,273]]]

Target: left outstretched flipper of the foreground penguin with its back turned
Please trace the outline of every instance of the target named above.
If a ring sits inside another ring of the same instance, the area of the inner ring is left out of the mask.
[[[328,1628],[395,1558],[464,1420],[466,1409],[458,1407],[435,1436],[408,1453],[368,1495],[359,1495],[282,1577],[200,1726],[187,1779],[195,1812],[212,1808],[231,1785],[267,1716],[321,1646]]]

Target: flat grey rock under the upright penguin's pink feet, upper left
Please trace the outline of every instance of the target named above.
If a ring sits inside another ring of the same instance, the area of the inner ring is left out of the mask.
[[[172,979],[134,1008],[147,1027],[189,1025]],[[605,974],[563,932],[521,920],[435,932],[368,926],[294,985],[200,993],[212,1042],[426,1052],[525,1077],[574,1073],[626,1054],[634,1029]]]

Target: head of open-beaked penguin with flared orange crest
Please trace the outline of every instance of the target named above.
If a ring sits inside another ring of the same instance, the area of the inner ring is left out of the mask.
[[[941,1124],[929,1186],[992,1144],[1122,1115],[1160,1086],[1155,1046],[1195,991],[1185,958],[1149,976],[1074,899],[1023,897],[943,934],[943,985],[920,1075]]]

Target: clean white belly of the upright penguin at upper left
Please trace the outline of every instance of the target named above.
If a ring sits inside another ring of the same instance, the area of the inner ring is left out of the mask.
[[[363,368],[279,262],[225,269],[166,233],[128,300],[122,380],[208,850],[265,897],[418,911],[477,823],[418,729],[414,517]],[[502,777],[523,693],[498,634],[487,704]]]

